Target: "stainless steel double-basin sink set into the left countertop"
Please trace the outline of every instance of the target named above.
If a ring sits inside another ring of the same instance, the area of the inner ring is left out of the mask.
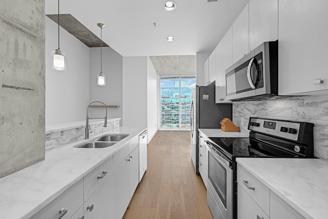
[[[121,141],[129,134],[107,134],[96,138],[91,142],[76,146],[76,148],[107,148]]]

